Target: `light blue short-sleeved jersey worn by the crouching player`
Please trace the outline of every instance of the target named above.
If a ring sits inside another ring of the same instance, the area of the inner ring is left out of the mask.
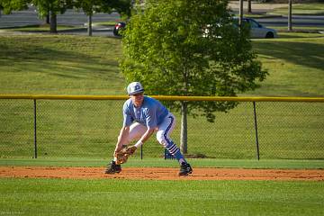
[[[166,107],[154,98],[144,96],[143,103],[139,108],[136,108],[127,100],[122,108],[123,126],[130,126],[133,121],[139,122],[148,128],[157,127],[168,114]]]

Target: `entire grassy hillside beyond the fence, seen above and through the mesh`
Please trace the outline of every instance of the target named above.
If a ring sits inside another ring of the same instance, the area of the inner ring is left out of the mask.
[[[269,76],[257,91],[247,95],[324,95],[324,37],[289,35],[292,38],[253,40]],[[2,35],[0,39],[1,94],[124,94],[118,70],[119,39],[37,34]],[[121,105],[39,101],[39,157],[107,157],[121,127],[116,124],[121,122],[121,114],[116,114]],[[324,157],[322,103],[257,103],[257,113],[261,159]],[[179,144],[180,117],[175,115],[174,139]],[[252,104],[241,103],[229,113],[218,112],[216,120],[211,124],[189,117],[190,154],[256,158]],[[0,157],[31,157],[32,101],[1,101],[0,121]],[[160,157],[163,152],[154,139],[145,150],[145,157]]]

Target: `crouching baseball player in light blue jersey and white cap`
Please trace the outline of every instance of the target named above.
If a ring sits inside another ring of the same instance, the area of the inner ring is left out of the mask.
[[[121,161],[118,153],[130,141],[137,140],[136,144],[128,148],[128,155],[135,152],[149,137],[157,131],[157,141],[173,155],[180,164],[179,175],[188,175],[193,168],[186,162],[184,155],[170,139],[175,128],[175,116],[166,107],[154,98],[144,95],[144,88],[139,82],[132,82],[127,86],[130,95],[122,108],[123,124],[118,137],[112,162],[107,166],[106,174],[121,172]],[[126,158],[127,159],[127,158]]]

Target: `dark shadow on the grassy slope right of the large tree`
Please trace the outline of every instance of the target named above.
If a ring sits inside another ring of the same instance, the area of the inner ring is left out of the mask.
[[[284,59],[296,65],[324,69],[324,44],[292,41],[257,41],[257,54]]]

